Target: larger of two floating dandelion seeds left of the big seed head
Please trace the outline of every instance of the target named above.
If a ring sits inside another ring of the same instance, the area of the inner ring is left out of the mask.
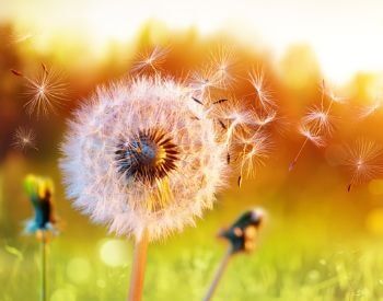
[[[30,78],[18,70],[11,70],[16,77],[25,80],[25,96],[27,102],[24,104],[26,112],[32,115],[47,115],[55,112],[67,96],[67,84],[62,82],[62,74],[53,69],[48,69],[44,63],[40,72],[35,78]]]

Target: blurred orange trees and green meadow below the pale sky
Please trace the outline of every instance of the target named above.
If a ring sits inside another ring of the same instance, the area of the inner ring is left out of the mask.
[[[50,40],[45,48],[37,48],[33,38],[14,43],[12,26],[2,26],[2,36],[9,40],[0,48],[1,301],[38,300],[39,296],[39,242],[23,233],[32,207],[22,181],[31,172],[53,177],[62,228],[49,243],[48,300],[126,298],[131,242],[115,238],[77,212],[60,184],[59,144],[66,119],[97,84],[126,76],[142,49],[171,45],[161,70],[181,77],[209,60],[209,54],[222,43],[232,44],[225,35],[201,38],[194,30],[164,30],[158,35],[151,26],[139,33],[135,44],[108,45],[101,58],[86,56],[79,40]],[[217,233],[244,210],[258,206],[267,218],[257,247],[232,258],[213,300],[383,300],[383,182],[356,183],[347,192],[350,175],[337,162],[344,141],[367,136],[383,142],[376,130],[382,124],[380,114],[356,123],[358,107],[371,102],[375,76],[356,74],[344,86],[349,102],[334,108],[340,117],[330,141],[324,148],[307,143],[289,172],[304,140],[297,131],[297,120],[307,106],[321,101],[322,76],[315,56],[310,47],[298,45],[277,68],[265,49],[240,45],[235,58],[241,61],[235,93],[248,94],[248,83],[241,80],[248,66],[263,66],[267,74],[283,116],[271,129],[272,151],[257,166],[255,177],[243,180],[241,187],[233,176],[230,188],[218,194],[214,209],[196,228],[149,246],[144,300],[201,300],[228,247]],[[42,63],[65,71],[68,99],[56,114],[37,118],[25,112],[25,86],[10,70],[38,72]],[[38,150],[23,152],[12,147],[20,125],[34,128]]]

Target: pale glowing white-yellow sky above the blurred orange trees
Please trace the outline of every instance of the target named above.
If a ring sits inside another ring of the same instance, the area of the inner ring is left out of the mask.
[[[339,83],[360,70],[383,70],[382,12],[381,0],[0,0],[1,20],[47,36],[82,33],[98,44],[128,40],[151,19],[202,34],[228,31],[269,47],[277,59],[304,43],[325,77]]]

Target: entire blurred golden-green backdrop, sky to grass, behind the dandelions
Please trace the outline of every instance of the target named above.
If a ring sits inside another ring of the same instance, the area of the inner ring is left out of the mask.
[[[230,263],[214,300],[383,300],[383,180],[347,192],[339,148],[359,137],[383,143],[382,113],[359,118],[383,91],[381,1],[4,1],[0,0],[0,300],[37,300],[39,245],[23,234],[33,213],[27,173],[53,177],[62,233],[49,246],[51,301],[124,300],[131,242],[74,211],[58,170],[66,120],[95,86],[132,76],[140,56],[169,49],[161,72],[184,79],[229,47],[236,79],[228,95],[252,93],[248,71],[262,67],[281,123],[272,152],[255,178],[232,178],[214,210],[164,242],[150,245],[146,300],[200,300],[227,244],[217,239],[246,209],[267,221],[256,252]],[[66,97],[55,113],[27,114],[25,79],[42,66],[60,71]],[[321,82],[347,100],[335,104],[326,147],[297,130],[321,102]],[[35,148],[14,148],[18,127]]]

